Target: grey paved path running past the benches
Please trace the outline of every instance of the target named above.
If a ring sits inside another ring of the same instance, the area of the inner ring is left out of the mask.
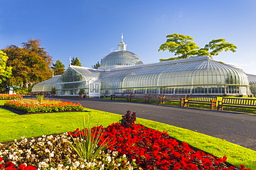
[[[101,98],[60,98],[60,100],[81,103],[89,109],[115,114],[124,115],[127,110],[135,111],[138,118],[190,129],[256,151],[256,115],[253,114],[111,101]]]

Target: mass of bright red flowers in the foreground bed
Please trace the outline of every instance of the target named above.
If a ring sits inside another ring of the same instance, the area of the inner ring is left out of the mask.
[[[98,131],[102,127],[94,127]],[[83,130],[84,131],[84,130]],[[79,129],[68,132],[77,137],[84,133]],[[102,132],[103,133],[103,132]],[[203,151],[194,151],[188,143],[177,142],[166,132],[156,131],[133,124],[129,128],[120,123],[113,123],[105,128],[102,141],[112,138],[109,143],[111,151],[125,154],[129,160],[136,160],[138,167],[143,169],[245,169],[241,167],[226,167],[226,157],[214,158]]]

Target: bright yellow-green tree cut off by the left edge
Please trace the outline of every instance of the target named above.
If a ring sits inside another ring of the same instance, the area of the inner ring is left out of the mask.
[[[12,75],[12,67],[7,66],[8,56],[5,52],[0,51],[0,84],[3,85],[7,78]]]

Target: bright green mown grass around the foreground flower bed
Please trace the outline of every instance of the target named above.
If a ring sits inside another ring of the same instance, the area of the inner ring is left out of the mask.
[[[3,100],[0,100],[0,105],[3,105]],[[91,115],[92,126],[103,125],[107,127],[111,123],[119,122],[122,118],[119,114],[111,114],[93,109],[85,110],[89,112],[17,115],[6,109],[0,109],[0,142],[14,140],[15,138],[19,139],[20,136],[31,138],[74,131],[77,127],[83,127],[83,116],[87,114]],[[219,138],[172,125],[157,123],[152,120],[137,118],[136,123],[152,129],[167,131],[172,138],[188,142],[192,147],[206,151],[214,156],[227,156],[227,162],[235,166],[239,167],[240,164],[244,164],[246,168],[256,169],[256,151],[251,149],[246,149]]]

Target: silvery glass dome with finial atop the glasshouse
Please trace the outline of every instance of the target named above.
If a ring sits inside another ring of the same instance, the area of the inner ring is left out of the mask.
[[[111,52],[105,56],[101,63],[99,69],[109,70],[116,67],[125,67],[131,65],[141,65],[143,61],[134,54],[126,50],[126,45],[123,41],[118,45],[118,50]]]

